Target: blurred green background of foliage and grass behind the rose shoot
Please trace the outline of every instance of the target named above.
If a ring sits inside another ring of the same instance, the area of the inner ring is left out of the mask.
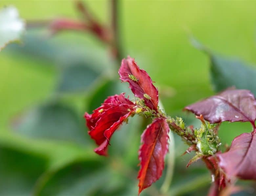
[[[109,23],[109,1],[85,3]],[[79,18],[74,1],[1,0],[4,5],[15,6],[28,22]],[[200,123],[182,108],[215,93],[209,57],[191,45],[188,35],[216,54],[256,65],[256,1],[124,0],[119,8],[123,57],[136,59],[156,82],[165,111],[187,124]],[[45,26],[29,28],[20,45],[1,51],[0,195],[137,195],[142,117],[114,134],[107,158],[93,152],[96,145],[83,119],[108,95],[132,96],[118,81],[119,63],[92,34],[50,36]],[[219,135],[230,144],[250,130],[249,123],[223,123]],[[181,157],[185,149],[175,137],[168,195],[205,195],[210,174],[201,161],[185,169],[193,156]],[[165,171],[141,195],[160,195],[164,176]]]

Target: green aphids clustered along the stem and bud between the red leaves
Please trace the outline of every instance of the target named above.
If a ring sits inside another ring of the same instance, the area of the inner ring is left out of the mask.
[[[129,78],[138,82],[139,79],[134,75],[129,74]],[[151,97],[148,94],[143,96],[150,100]],[[217,136],[218,127],[214,124],[210,124],[203,120],[203,117],[198,117],[202,121],[200,129],[194,129],[193,126],[186,126],[184,120],[180,117],[176,119],[166,116],[162,110],[158,108],[158,111],[150,109],[145,105],[145,100],[135,99],[134,103],[138,106],[135,113],[145,116],[146,118],[158,118],[164,117],[167,119],[170,129],[181,136],[182,140],[188,145],[195,145],[197,149],[197,157],[209,156],[217,152],[218,147],[221,145],[220,139]]]

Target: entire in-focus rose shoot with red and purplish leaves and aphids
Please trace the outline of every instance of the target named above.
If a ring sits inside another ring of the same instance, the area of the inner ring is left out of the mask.
[[[110,96],[92,114],[86,112],[84,117],[89,128],[88,133],[98,145],[95,152],[99,155],[107,155],[112,135],[123,122],[128,121],[129,117],[140,115],[152,119],[152,123],[141,135],[139,193],[162,175],[170,130],[181,136],[189,145],[186,152],[195,151],[195,156],[187,167],[202,159],[211,171],[214,182],[209,195],[221,195],[227,187],[234,187],[232,179],[236,177],[256,179],[256,101],[250,91],[228,89],[185,107],[202,121],[201,127],[195,129],[193,126],[186,126],[180,117],[172,118],[160,110],[158,89],[153,85],[147,72],[139,69],[133,58],[123,59],[118,73],[120,80],[129,83],[129,88],[138,99],[132,102],[124,93]],[[252,124],[253,130],[251,133],[236,137],[230,149],[221,153],[218,127],[223,121],[248,121]]]

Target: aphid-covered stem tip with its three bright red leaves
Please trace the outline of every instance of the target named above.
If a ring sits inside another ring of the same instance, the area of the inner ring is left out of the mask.
[[[197,118],[201,120],[202,126],[199,129],[194,129],[193,126],[186,126],[182,118],[172,118],[165,114],[159,108],[158,89],[153,85],[150,76],[144,70],[139,69],[133,58],[123,59],[118,73],[122,82],[129,83],[129,87],[136,98],[129,100],[125,98],[124,93],[110,96],[102,106],[94,110],[93,114],[85,113],[87,126],[90,129],[89,135],[98,145],[95,149],[97,154],[107,155],[107,147],[113,133],[123,122],[127,123],[129,117],[138,114],[152,119],[152,123],[147,126],[141,136],[142,144],[139,148],[140,170],[138,174],[139,193],[151,186],[162,175],[164,157],[168,152],[170,129],[181,136],[182,140],[189,145],[186,150],[187,153],[192,151],[196,153],[187,167],[201,158],[208,165],[209,162],[210,164],[213,163],[210,158],[217,154],[221,145],[217,136],[218,125],[215,126],[205,122],[203,116],[200,115]],[[103,109],[106,109],[106,111]],[[212,167],[211,165],[211,168],[210,166],[208,168],[215,174],[216,172],[213,170],[216,168]],[[219,174],[216,174],[215,179],[218,180],[219,178]],[[223,182],[220,184],[223,184]]]

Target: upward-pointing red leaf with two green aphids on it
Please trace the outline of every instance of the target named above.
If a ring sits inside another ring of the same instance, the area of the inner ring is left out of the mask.
[[[158,90],[153,85],[148,73],[139,69],[134,58],[124,58],[118,73],[122,81],[129,82],[130,89],[136,97],[144,99],[146,106],[157,111]]]

